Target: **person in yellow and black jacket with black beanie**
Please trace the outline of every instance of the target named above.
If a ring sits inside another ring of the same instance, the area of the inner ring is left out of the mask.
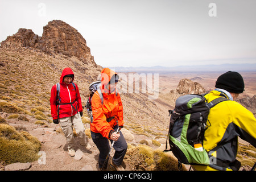
[[[216,81],[216,89],[205,95],[208,102],[218,97],[229,100],[210,109],[209,125],[204,134],[203,146],[210,155],[210,165],[193,165],[197,171],[238,170],[236,160],[238,137],[256,147],[256,119],[249,110],[234,101],[243,92],[245,85],[240,73],[226,72]]]

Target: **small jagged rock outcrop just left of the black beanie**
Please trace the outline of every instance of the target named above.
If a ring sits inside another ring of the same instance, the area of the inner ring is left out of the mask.
[[[187,78],[180,80],[176,90],[179,94],[205,93],[205,89],[201,84],[199,84],[198,82],[193,82]]]

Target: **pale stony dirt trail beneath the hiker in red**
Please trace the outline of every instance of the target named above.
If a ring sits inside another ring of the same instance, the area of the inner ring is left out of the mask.
[[[94,145],[92,139],[88,139],[92,148],[86,150],[80,145],[79,140],[75,138],[75,151],[81,152],[80,154],[78,152],[75,157],[71,157],[68,154],[65,136],[56,132],[56,130],[60,130],[59,125],[50,123],[48,124],[49,127],[43,127],[34,125],[32,122],[23,121],[9,123],[9,125],[14,127],[25,127],[28,133],[38,138],[42,143],[40,149],[40,155],[42,156],[39,160],[31,162],[31,168],[28,169],[30,171],[94,171],[98,169],[98,149]],[[77,158],[81,159],[78,160]]]

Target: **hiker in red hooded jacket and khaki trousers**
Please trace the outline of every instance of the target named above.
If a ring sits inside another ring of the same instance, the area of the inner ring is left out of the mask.
[[[90,144],[86,143],[84,125],[82,124],[82,102],[78,86],[73,83],[74,73],[71,68],[65,68],[60,77],[59,98],[57,98],[57,84],[51,90],[51,114],[55,124],[60,122],[61,128],[67,138],[68,152],[70,156],[75,156],[75,139],[73,137],[73,127],[75,127],[79,142],[86,149],[90,149]]]

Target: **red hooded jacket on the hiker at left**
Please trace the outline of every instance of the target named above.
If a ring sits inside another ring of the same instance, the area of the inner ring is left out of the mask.
[[[63,72],[60,77],[60,104],[73,102],[72,104],[73,107],[71,106],[71,104],[56,105],[57,86],[53,85],[51,90],[51,98],[50,98],[52,119],[58,118],[57,107],[59,107],[60,118],[71,117],[75,115],[77,111],[79,112],[82,111],[82,102],[81,102],[81,97],[79,93],[79,88],[75,83],[74,84],[76,85],[76,89],[73,87],[72,84],[68,84],[68,85],[65,84],[63,78],[66,75],[74,75],[71,68],[63,69]],[[72,82],[73,81],[74,81],[74,78]]]

